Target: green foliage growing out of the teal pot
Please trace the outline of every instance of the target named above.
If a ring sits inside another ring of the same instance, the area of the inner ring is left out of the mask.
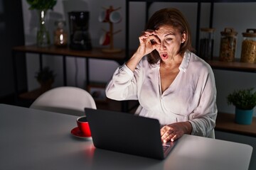
[[[235,90],[227,97],[228,104],[242,110],[251,110],[256,106],[256,91],[251,89]]]

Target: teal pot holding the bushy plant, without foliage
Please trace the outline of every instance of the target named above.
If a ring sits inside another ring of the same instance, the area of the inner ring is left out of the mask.
[[[235,108],[235,123],[241,125],[250,125],[252,123],[253,109],[242,110]]]

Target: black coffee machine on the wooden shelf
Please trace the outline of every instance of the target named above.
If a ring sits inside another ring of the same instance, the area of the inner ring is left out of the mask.
[[[70,48],[92,50],[89,33],[89,12],[72,11],[68,13],[70,24]]]

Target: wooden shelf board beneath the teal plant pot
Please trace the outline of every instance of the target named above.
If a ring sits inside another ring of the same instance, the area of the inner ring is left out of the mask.
[[[251,125],[240,125],[235,123],[235,114],[219,112],[216,119],[215,130],[256,137],[256,118],[254,117],[252,119]]]

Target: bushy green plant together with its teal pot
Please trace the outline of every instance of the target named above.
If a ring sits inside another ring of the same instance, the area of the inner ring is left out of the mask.
[[[256,91],[251,89],[235,90],[229,94],[228,104],[235,106],[235,122],[242,125],[252,123],[253,108],[256,106]]]

